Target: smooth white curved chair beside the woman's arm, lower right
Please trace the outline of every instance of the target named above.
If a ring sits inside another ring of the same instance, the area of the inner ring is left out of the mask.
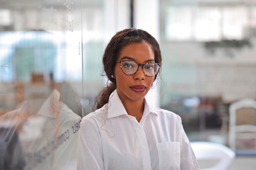
[[[191,142],[191,147],[199,162],[203,160],[218,161],[215,165],[209,168],[201,168],[201,170],[227,170],[234,157],[236,157],[233,150],[215,142],[193,141]]]

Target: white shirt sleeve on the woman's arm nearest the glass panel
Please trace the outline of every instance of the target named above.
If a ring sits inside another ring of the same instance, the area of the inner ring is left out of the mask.
[[[79,130],[77,170],[104,170],[99,128],[84,118]]]

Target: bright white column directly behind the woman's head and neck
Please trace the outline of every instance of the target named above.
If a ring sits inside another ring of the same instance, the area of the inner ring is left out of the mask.
[[[134,0],[134,25],[143,29],[159,42],[159,0]],[[158,81],[158,80],[156,80]],[[159,106],[159,83],[146,95],[150,104]]]

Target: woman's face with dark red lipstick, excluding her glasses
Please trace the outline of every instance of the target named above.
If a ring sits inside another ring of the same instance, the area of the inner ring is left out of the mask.
[[[147,42],[132,43],[121,50],[117,60],[134,61],[138,64],[153,63],[155,62],[155,54],[152,47]],[[124,65],[122,67],[124,67]],[[155,76],[146,76],[142,70],[142,66],[139,66],[136,73],[126,75],[121,70],[120,62],[116,62],[114,77],[117,83],[117,93],[123,103],[143,100],[155,78]]]

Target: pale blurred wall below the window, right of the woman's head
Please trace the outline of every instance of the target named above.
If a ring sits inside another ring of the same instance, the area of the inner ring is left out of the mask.
[[[222,96],[224,102],[245,97],[256,98],[256,38],[252,47],[223,49],[214,54],[203,42],[161,42],[164,95],[162,104],[177,95]]]

